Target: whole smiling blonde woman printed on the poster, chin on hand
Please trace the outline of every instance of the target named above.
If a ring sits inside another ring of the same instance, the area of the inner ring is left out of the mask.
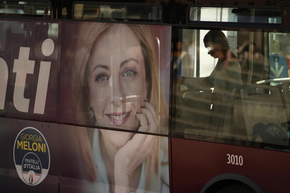
[[[86,125],[165,132],[168,107],[158,89],[158,62],[150,29],[90,23],[79,36],[84,38],[78,43],[81,49],[74,62],[72,84],[79,112],[76,120]],[[160,137],[107,129],[91,133],[79,128],[76,132],[86,172],[92,181],[107,185],[104,191],[169,190],[168,167],[161,166],[168,164],[163,159],[166,144]]]

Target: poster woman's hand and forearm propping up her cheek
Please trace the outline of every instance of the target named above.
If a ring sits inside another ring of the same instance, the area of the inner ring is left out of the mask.
[[[150,133],[156,131],[158,119],[150,103],[144,101],[144,107],[141,107],[141,113],[137,113],[136,117],[141,125],[138,131]],[[136,176],[134,172],[153,153],[155,138],[155,135],[136,133],[117,151],[114,158],[115,192],[128,193],[138,187],[140,173],[137,173]]]

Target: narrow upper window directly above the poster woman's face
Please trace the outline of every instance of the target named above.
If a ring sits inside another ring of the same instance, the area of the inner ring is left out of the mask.
[[[74,5],[74,19],[113,21],[154,20],[160,22],[161,7],[158,5]]]

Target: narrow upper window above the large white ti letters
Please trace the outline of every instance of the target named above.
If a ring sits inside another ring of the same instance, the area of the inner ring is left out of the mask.
[[[50,17],[50,2],[0,2],[0,15],[15,17]]]

